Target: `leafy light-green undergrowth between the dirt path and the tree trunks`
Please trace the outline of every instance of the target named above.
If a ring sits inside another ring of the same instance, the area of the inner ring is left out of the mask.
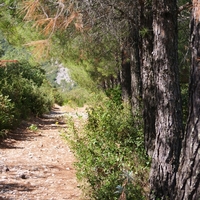
[[[73,137],[66,138],[77,156],[77,177],[86,180],[92,190],[89,198],[144,199],[148,160],[141,150],[142,129],[136,130],[129,106],[106,100],[88,110],[84,132],[72,127]]]

